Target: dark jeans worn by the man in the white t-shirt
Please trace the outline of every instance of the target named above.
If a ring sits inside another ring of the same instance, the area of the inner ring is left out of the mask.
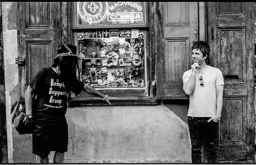
[[[211,117],[187,117],[191,139],[192,163],[202,163],[203,133],[206,141],[208,163],[218,163],[219,122],[207,122]]]

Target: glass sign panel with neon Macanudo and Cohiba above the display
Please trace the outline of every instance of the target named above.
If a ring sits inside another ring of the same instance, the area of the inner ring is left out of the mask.
[[[145,2],[77,2],[76,11],[77,24],[145,23]]]

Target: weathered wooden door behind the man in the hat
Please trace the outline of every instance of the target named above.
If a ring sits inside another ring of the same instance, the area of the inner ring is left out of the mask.
[[[43,67],[50,67],[62,42],[60,2],[18,3],[18,57],[26,60],[19,66],[20,97]]]

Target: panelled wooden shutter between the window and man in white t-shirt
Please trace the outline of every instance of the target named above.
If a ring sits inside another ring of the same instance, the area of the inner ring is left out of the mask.
[[[198,41],[198,2],[155,3],[157,99],[188,99],[182,75]]]

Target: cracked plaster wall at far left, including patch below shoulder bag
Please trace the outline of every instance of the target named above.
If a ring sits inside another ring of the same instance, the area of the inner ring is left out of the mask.
[[[33,161],[30,153],[32,148],[31,135],[19,135],[11,127],[10,113],[15,101],[19,99],[18,67],[15,58],[18,54],[17,46],[17,2],[1,2],[3,12],[3,43],[5,65],[5,104],[8,143],[8,162]]]

